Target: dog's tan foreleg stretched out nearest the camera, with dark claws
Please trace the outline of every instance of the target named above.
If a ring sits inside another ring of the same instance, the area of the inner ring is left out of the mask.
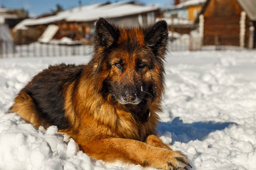
[[[140,164],[159,169],[187,169],[190,167],[185,155],[166,148],[123,138],[105,138],[84,141],[80,148],[89,156],[107,162],[121,160],[123,163]]]

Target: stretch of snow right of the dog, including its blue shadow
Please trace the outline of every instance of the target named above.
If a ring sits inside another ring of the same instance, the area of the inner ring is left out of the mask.
[[[174,53],[167,61],[159,130],[171,132],[197,169],[255,169],[255,51]]]

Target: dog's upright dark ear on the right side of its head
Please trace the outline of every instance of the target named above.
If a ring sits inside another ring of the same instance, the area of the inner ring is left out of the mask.
[[[165,20],[144,29],[144,41],[157,56],[163,57],[168,44],[168,26]]]

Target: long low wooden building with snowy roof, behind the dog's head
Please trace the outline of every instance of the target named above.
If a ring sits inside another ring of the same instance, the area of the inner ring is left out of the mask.
[[[159,7],[144,6],[135,1],[79,6],[61,11],[56,15],[24,20],[15,27],[15,40],[23,40],[23,37],[24,41],[20,42],[21,44],[36,41],[49,25],[54,24],[59,27],[59,30],[53,39],[60,40],[68,37],[73,41],[88,44],[90,37],[94,35],[94,23],[100,17],[117,25],[132,26],[154,23],[159,13]]]

